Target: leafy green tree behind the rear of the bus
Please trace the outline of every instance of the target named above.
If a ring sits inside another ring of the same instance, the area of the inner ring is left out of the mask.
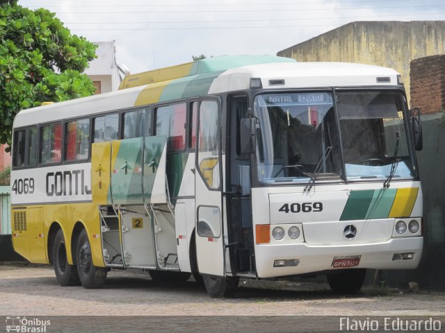
[[[96,57],[95,48],[49,10],[0,0],[0,144],[10,146],[20,110],[94,93],[90,78],[80,73]]]

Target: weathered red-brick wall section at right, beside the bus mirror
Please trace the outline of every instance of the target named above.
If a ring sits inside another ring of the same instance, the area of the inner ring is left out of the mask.
[[[411,105],[423,114],[437,113],[445,107],[445,55],[419,58],[410,62]]]

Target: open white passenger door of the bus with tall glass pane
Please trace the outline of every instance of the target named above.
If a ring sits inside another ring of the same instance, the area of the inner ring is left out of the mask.
[[[200,99],[195,157],[195,232],[200,273],[224,275],[220,99]]]

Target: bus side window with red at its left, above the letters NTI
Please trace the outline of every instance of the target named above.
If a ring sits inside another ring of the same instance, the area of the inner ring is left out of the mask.
[[[65,160],[88,160],[90,151],[90,119],[65,124]]]

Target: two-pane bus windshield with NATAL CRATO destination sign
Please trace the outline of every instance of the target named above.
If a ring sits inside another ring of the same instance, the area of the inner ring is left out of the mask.
[[[255,97],[261,182],[412,178],[403,95],[343,91],[335,97],[338,118],[332,92]]]

